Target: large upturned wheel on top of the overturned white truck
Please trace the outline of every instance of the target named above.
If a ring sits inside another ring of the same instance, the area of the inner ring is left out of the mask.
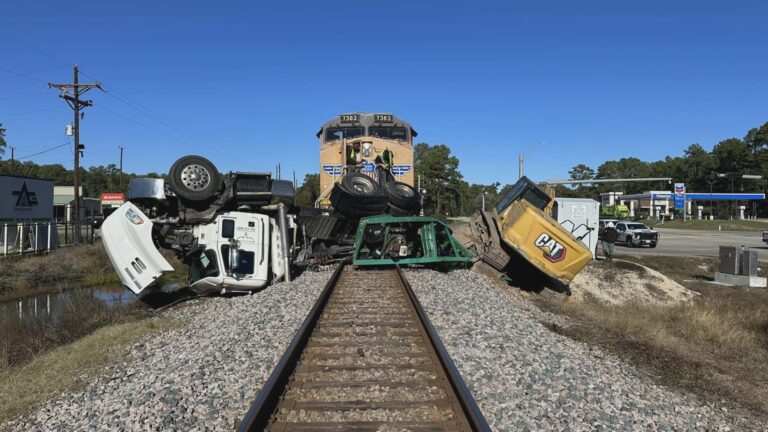
[[[184,156],[168,172],[171,190],[188,201],[207,201],[216,195],[221,178],[211,161],[202,156]]]

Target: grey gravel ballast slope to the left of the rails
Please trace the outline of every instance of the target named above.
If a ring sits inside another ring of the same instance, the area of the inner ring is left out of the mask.
[[[250,296],[205,298],[163,314],[182,328],[130,347],[84,391],[5,425],[11,431],[231,430],[330,278],[305,272]]]

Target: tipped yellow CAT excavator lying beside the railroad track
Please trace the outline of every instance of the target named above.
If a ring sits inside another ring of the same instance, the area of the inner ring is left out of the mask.
[[[491,211],[480,210],[463,230],[464,245],[517,286],[567,292],[592,253],[560,226],[551,212],[552,196],[521,178]]]

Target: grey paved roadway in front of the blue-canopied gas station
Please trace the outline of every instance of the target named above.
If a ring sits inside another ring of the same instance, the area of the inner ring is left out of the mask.
[[[616,245],[617,255],[667,255],[717,257],[719,246],[745,246],[756,250],[760,261],[768,261],[768,247],[759,231],[707,231],[657,228],[661,240],[656,248]],[[598,246],[599,249],[599,246]]]

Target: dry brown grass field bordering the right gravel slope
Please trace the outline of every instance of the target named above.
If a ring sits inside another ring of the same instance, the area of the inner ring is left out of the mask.
[[[724,287],[711,278],[714,259],[632,258],[701,293],[671,306],[537,298],[572,318],[553,330],[598,345],[657,376],[713,401],[768,415],[768,291]]]

